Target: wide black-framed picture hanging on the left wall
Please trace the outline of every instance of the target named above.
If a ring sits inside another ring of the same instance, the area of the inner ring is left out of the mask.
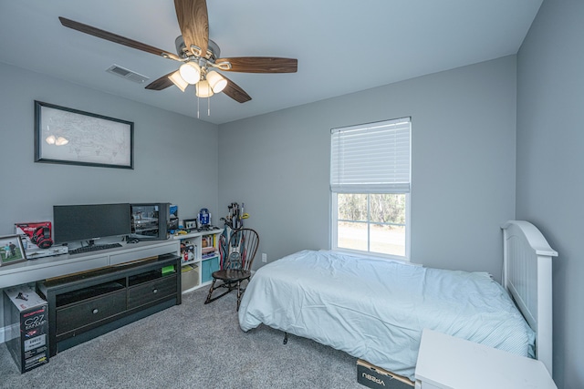
[[[134,123],[35,100],[35,162],[134,169]]]

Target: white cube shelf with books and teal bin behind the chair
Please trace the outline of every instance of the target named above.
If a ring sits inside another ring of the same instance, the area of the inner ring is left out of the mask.
[[[208,285],[219,270],[219,237],[223,230],[195,231],[174,235],[181,241],[183,293]]]

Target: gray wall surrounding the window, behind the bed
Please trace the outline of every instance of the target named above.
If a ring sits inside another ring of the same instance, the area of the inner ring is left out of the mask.
[[[221,125],[219,204],[245,202],[268,261],[326,249],[330,128],[406,116],[412,261],[500,279],[500,225],[515,216],[516,56]]]

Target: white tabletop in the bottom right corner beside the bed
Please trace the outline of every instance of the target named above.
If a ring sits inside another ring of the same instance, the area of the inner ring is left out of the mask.
[[[441,389],[557,389],[541,361],[428,329],[415,377]]]

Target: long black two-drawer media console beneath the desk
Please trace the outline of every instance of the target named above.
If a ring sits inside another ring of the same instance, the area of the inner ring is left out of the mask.
[[[48,302],[50,356],[181,303],[174,252],[36,282]]]

